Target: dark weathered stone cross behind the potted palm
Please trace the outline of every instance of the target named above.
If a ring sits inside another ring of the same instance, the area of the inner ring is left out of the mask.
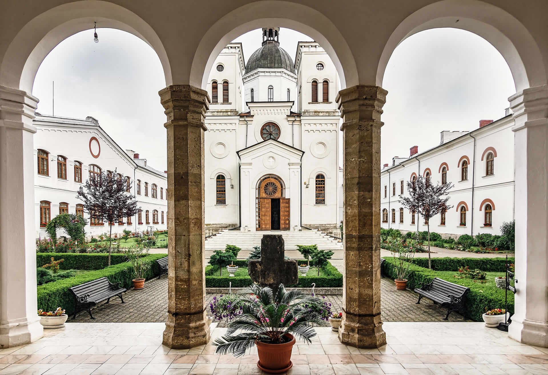
[[[262,236],[261,259],[249,260],[248,274],[253,282],[272,288],[275,294],[280,284],[288,286],[299,282],[297,262],[284,259],[282,235]]]

